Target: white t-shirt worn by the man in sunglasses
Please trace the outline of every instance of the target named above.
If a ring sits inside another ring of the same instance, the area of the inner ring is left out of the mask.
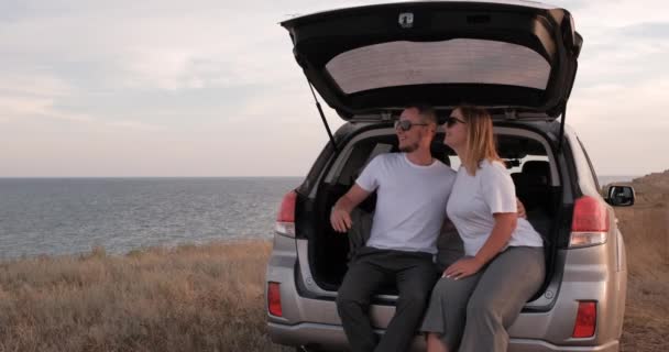
[[[435,160],[412,163],[405,153],[381,154],[370,162],[358,186],[376,191],[376,210],[366,245],[384,250],[437,253],[437,237],[456,172]]]

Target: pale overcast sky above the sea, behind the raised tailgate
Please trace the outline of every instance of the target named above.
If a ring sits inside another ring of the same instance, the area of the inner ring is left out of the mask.
[[[277,23],[363,3],[0,0],[0,177],[303,176],[327,135]],[[552,3],[599,175],[669,168],[669,4]]]

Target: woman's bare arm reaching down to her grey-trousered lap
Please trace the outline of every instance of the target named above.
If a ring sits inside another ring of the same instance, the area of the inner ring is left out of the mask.
[[[442,276],[459,279],[473,275],[506,246],[516,229],[518,215],[516,212],[497,212],[493,215],[493,218],[495,219],[493,231],[476,255],[456,262],[446,268]]]

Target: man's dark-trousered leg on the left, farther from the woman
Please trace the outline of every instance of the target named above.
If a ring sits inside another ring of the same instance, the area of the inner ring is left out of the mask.
[[[370,298],[388,276],[388,272],[376,263],[380,256],[383,254],[371,253],[357,257],[339,287],[337,310],[354,352],[370,352],[376,346],[376,336],[368,309]]]

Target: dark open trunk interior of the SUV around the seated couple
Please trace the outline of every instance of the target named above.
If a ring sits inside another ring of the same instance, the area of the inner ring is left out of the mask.
[[[441,143],[442,140],[443,133],[439,133],[435,139],[436,142],[432,143],[432,156],[458,169],[458,157]],[[525,205],[528,221],[545,241],[547,277],[545,285],[536,295],[539,296],[553,274],[556,253],[553,239],[557,238],[559,230],[555,219],[559,219],[558,212],[562,208],[560,207],[562,197],[560,182],[551,179],[549,162],[551,158],[548,157],[546,148],[540,142],[524,136],[497,135],[497,150],[507,163],[516,186],[516,195]],[[351,254],[369,238],[376,197],[375,194],[372,194],[353,211],[353,229],[348,235],[334,232],[331,228],[330,209],[354,184],[366,163],[375,155],[386,152],[397,152],[397,139],[394,134],[360,140],[352,146],[351,153],[340,154],[340,157],[348,155],[348,160],[339,168],[339,174],[330,178],[333,182],[321,183],[318,187],[312,218],[315,231],[314,235],[309,238],[309,262],[315,280],[326,290],[339,288],[348,270]],[[440,256],[459,257],[460,253],[458,250],[453,250],[452,245],[448,249],[441,245],[446,242],[453,243],[446,241],[447,235],[448,233],[442,233],[438,240],[438,258]],[[382,287],[377,294],[393,295],[396,294],[396,290],[393,284],[388,284]]]

